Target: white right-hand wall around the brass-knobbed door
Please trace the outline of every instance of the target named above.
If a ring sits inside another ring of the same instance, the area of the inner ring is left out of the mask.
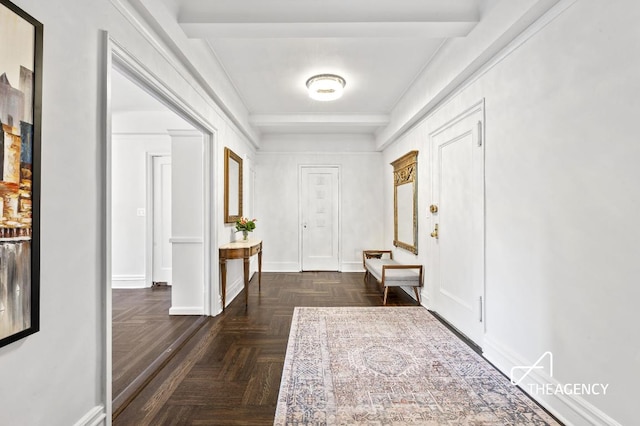
[[[609,385],[534,394],[568,424],[637,417],[639,20],[631,0],[575,2],[385,152],[426,150],[431,130],[485,98],[485,355],[509,374],[551,351],[541,383]],[[423,177],[421,247],[432,226]],[[392,226],[385,214],[386,239]],[[420,258],[429,265],[428,245]]]

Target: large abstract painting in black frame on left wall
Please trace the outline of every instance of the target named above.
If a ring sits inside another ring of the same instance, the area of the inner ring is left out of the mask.
[[[3,347],[40,330],[43,25],[10,1],[0,0],[0,39],[4,44],[0,47]]]

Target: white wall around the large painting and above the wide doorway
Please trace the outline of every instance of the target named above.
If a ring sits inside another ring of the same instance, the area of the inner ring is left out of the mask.
[[[0,348],[0,377],[10,384],[0,386],[0,424],[90,424],[104,419],[110,399],[104,364],[110,271],[105,264],[101,30],[198,111],[204,128],[214,132],[233,124],[166,49],[159,51],[160,40],[152,43],[146,39],[150,33],[134,28],[131,22],[139,17],[133,13],[130,21],[126,10],[117,9],[119,2],[14,3],[44,24],[41,330]],[[246,111],[236,116],[241,120]]]

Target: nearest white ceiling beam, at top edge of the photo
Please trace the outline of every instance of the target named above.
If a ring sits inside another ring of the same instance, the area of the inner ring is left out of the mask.
[[[178,22],[191,38],[462,37],[479,0],[183,0]]]

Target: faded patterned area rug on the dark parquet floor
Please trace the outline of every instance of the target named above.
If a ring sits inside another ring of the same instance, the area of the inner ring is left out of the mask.
[[[275,425],[557,424],[421,307],[296,308]]]

